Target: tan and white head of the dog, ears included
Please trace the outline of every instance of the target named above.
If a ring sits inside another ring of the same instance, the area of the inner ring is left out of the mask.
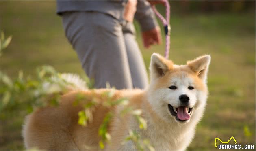
[[[165,121],[187,123],[196,112],[202,112],[208,95],[207,72],[210,55],[174,65],[154,53],[150,63],[148,100]]]

